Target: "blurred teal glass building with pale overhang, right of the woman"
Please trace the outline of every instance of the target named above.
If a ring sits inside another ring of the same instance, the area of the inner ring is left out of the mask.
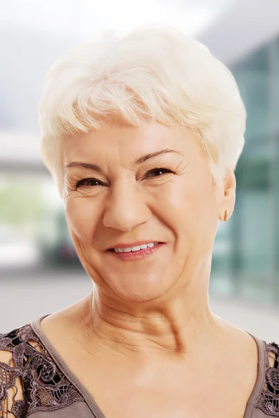
[[[216,238],[211,289],[279,304],[279,3],[236,3],[199,39],[232,71],[248,113],[236,207]]]

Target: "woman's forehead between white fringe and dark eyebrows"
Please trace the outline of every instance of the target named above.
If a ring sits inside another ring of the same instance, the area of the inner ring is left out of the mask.
[[[74,160],[89,161],[92,158],[102,160],[121,157],[134,160],[164,148],[193,157],[195,153],[200,153],[195,132],[187,127],[166,126],[156,121],[141,121],[139,126],[133,126],[123,119],[117,119],[105,128],[63,139],[66,163]]]

